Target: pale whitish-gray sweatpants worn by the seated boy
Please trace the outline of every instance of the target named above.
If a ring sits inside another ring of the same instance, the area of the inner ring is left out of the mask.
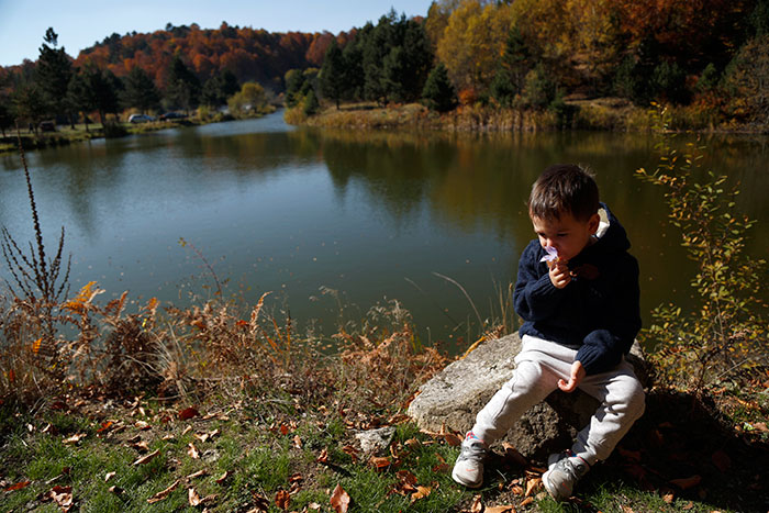
[[[526,410],[556,390],[559,379],[569,380],[577,350],[528,335],[522,342],[513,378],[476,416],[472,432],[487,445],[503,437]],[[571,450],[593,465],[609,457],[644,413],[645,394],[633,366],[624,358],[608,372],[586,376],[579,388],[601,404]]]

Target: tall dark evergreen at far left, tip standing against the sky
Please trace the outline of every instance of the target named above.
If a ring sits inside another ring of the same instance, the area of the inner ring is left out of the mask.
[[[73,75],[73,64],[64,47],[58,46],[58,34],[52,27],[45,32],[45,43],[37,58],[37,85],[47,109],[58,116],[66,114],[67,87]]]

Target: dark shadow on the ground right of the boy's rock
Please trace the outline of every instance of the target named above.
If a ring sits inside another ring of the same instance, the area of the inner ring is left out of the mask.
[[[735,432],[713,404],[690,394],[654,391],[646,403],[644,416],[584,477],[576,498],[561,504],[545,498],[538,511],[767,512],[769,444]],[[522,470],[501,455],[493,457],[483,501],[520,504],[522,498],[510,489]]]

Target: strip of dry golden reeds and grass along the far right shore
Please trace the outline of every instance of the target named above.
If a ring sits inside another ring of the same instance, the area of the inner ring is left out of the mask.
[[[712,109],[698,105],[670,108],[670,129],[701,132],[766,133],[764,125],[728,120]],[[633,105],[620,98],[573,99],[558,109],[516,110],[460,105],[456,110],[437,113],[420,103],[343,104],[327,107],[307,116],[301,108],[288,109],[286,121],[291,124],[356,130],[416,129],[466,132],[536,132],[548,130],[601,130],[642,132],[654,130],[648,109]]]

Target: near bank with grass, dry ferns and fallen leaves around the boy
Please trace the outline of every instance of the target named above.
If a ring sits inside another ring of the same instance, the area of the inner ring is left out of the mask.
[[[349,511],[393,513],[758,512],[769,500],[760,394],[723,389],[714,404],[653,390],[612,457],[557,504],[545,462],[504,445],[481,490],[453,482],[461,434],[405,415],[449,359],[420,345],[398,303],[315,339],[264,301],[151,300],[130,314],[126,297],[97,295],[91,285],[59,305],[77,334],[56,342],[32,334],[29,303],[2,303],[3,511],[338,512],[348,499]],[[355,435],[381,427],[392,438],[365,451]]]

